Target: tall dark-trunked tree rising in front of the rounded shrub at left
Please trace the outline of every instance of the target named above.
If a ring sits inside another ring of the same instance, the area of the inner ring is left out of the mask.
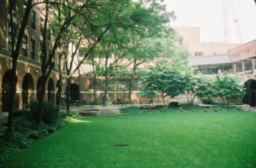
[[[50,73],[53,69],[54,66],[54,61],[53,61],[53,57],[56,53],[56,49],[59,47],[59,44],[61,42],[61,37],[63,36],[63,34],[67,31],[67,29],[69,28],[69,26],[72,25],[72,22],[75,20],[76,17],[78,17],[79,13],[82,11],[82,9],[84,9],[87,5],[87,1],[83,2],[83,3],[78,3],[76,1],[72,1],[69,3],[69,1],[61,1],[60,3],[57,3],[57,1],[55,1],[55,4],[51,4],[54,6],[58,6],[59,4],[64,4],[64,8],[68,8],[68,15],[65,18],[61,18],[61,26],[59,29],[56,29],[56,39],[53,42],[53,47],[48,47],[47,44],[47,35],[50,36],[50,34],[47,34],[47,28],[50,25],[50,21],[48,19],[48,15],[49,15],[49,4],[48,4],[48,0],[45,1],[46,5],[45,5],[45,22],[44,22],[44,26],[43,26],[43,42],[42,42],[42,65],[41,65],[41,70],[42,70],[42,83],[41,83],[41,88],[39,91],[39,110],[38,110],[38,115],[37,115],[37,123],[41,123],[42,122],[42,100],[43,100],[43,96],[45,95],[45,84],[46,81],[48,80],[48,77],[50,76]],[[56,8],[59,9],[60,8]],[[48,55],[48,53],[50,53]]]

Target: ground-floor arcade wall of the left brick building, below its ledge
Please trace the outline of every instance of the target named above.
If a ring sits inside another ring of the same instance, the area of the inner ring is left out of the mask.
[[[0,113],[2,112],[2,96],[3,96],[3,80],[4,80],[4,75],[7,74],[7,71],[11,69],[12,66],[12,59],[10,58],[10,55],[7,53],[10,53],[7,50],[0,50]],[[41,76],[40,72],[40,64],[37,63],[35,64],[34,62],[27,61],[26,57],[20,56],[18,59],[18,64],[17,64],[17,71],[16,74],[18,76],[18,83],[16,86],[16,95],[15,95],[15,109],[22,109],[26,104],[23,104],[23,80],[25,79],[25,75],[29,74],[31,75],[31,80],[29,80],[29,83],[32,83],[32,87],[29,88],[29,100],[36,100],[37,99],[37,83],[39,83],[39,77]],[[4,63],[4,64],[2,64]],[[45,85],[45,96],[44,100],[48,100],[48,94],[51,95],[51,99],[53,102],[56,102],[56,83],[57,80],[59,79],[59,72],[57,69],[54,69],[52,73],[50,74],[50,77],[48,78],[48,81],[46,82]],[[50,91],[48,93],[48,83],[50,80],[53,80],[53,91]],[[63,85],[63,90],[66,87],[66,85]]]

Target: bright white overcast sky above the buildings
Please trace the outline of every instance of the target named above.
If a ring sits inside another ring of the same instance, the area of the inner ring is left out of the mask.
[[[254,0],[230,0],[238,18],[243,42],[256,39],[256,6]],[[200,27],[201,42],[224,42],[222,0],[165,0],[167,11],[176,12],[170,26]],[[229,42],[239,43],[233,15],[229,9]]]

